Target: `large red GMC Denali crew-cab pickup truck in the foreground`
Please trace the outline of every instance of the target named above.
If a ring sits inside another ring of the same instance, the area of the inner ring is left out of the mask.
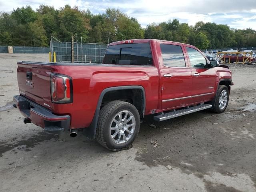
[[[138,39],[109,44],[102,64],[18,62],[14,107],[47,132],[78,129],[110,149],[126,148],[145,115],[163,121],[228,105],[231,71],[196,47]]]

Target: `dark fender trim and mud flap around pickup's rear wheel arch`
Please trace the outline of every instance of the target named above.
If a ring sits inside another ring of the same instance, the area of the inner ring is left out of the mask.
[[[106,88],[104,90],[102,90],[100,97],[98,99],[98,103],[97,103],[97,107],[94,113],[94,117],[92,119],[92,122],[90,124],[89,127],[84,128],[83,132],[85,134],[85,136],[90,139],[93,140],[95,139],[96,136],[96,129],[97,129],[97,125],[98,125],[98,119],[99,119],[99,115],[100,115],[100,106],[102,103],[102,100],[104,98],[104,95],[107,92],[110,91],[115,91],[115,90],[125,90],[125,89],[139,89],[142,91],[142,96],[143,96],[143,116],[145,113],[145,109],[146,109],[146,96],[145,96],[145,90],[142,86],[118,86],[118,87],[110,87],[110,88]]]

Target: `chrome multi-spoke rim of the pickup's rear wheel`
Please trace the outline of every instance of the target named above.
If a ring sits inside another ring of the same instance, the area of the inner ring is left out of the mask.
[[[135,131],[135,118],[132,112],[124,110],[118,112],[110,123],[110,137],[113,142],[123,144],[127,142]]]

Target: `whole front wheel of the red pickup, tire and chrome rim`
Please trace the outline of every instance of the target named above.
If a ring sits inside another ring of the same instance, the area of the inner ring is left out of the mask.
[[[219,85],[216,93],[215,104],[212,110],[216,113],[222,113],[226,110],[229,100],[229,91],[227,86]]]

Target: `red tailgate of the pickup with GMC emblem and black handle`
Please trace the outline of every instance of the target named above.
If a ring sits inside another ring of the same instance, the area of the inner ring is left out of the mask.
[[[17,78],[20,94],[51,109],[49,64],[18,62]]]

